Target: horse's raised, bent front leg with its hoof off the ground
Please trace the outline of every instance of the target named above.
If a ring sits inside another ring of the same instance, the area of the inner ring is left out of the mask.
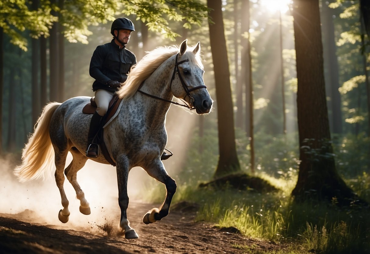
[[[157,163],[150,168],[145,169],[149,176],[155,178],[157,181],[164,183],[166,186],[166,199],[161,207],[153,208],[144,215],[142,221],[145,224],[154,223],[157,220],[162,220],[169,213],[169,206],[171,205],[172,197],[176,192],[176,182],[170,176],[168,176],[162,161],[157,161]]]

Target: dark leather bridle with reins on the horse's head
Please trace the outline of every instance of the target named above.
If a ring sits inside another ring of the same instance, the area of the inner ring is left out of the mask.
[[[185,81],[182,79],[182,76],[181,76],[181,73],[180,73],[179,64],[182,64],[182,63],[188,62],[188,61],[189,61],[189,59],[185,59],[185,60],[182,60],[182,61],[179,61],[179,62],[178,62],[178,61],[177,61],[177,57],[178,57],[178,55],[179,55],[179,53],[177,53],[177,54],[176,54],[175,68],[174,68],[174,72],[172,73],[171,83],[169,84],[169,87],[172,89],[172,81],[174,81],[174,79],[175,79],[175,74],[177,73],[177,74],[178,74],[178,76],[179,76],[179,80],[180,80],[180,82],[181,82],[181,84],[182,84],[182,87],[184,87],[184,90],[185,90],[185,92],[186,92],[186,95],[185,95],[185,96],[184,96],[184,98],[182,98],[182,99],[183,99],[183,100],[185,100],[186,96],[189,96],[189,104],[190,104],[190,106],[189,106],[189,105],[186,105],[186,104],[180,104],[180,103],[175,102],[175,101],[166,100],[166,99],[164,99],[164,98],[157,97],[157,96],[155,96],[155,95],[151,95],[151,94],[145,93],[145,92],[141,91],[140,89],[139,89],[138,91],[139,91],[140,93],[142,93],[142,94],[145,94],[145,95],[149,96],[149,97],[156,98],[156,99],[158,99],[158,100],[166,101],[166,102],[169,102],[169,103],[172,103],[172,104],[175,104],[175,105],[179,105],[179,106],[182,106],[182,107],[186,107],[186,108],[189,108],[190,110],[193,110],[193,109],[195,109],[195,107],[194,107],[194,106],[192,106],[192,105],[193,105],[193,103],[194,103],[194,98],[193,98],[193,97],[191,97],[190,92],[191,92],[191,91],[194,91],[194,90],[196,90],[196,89],[199,89],[199,88],[207,88],[207,87],[206,87],[205,85],[203,85],[203,86],[197,86],[197,87],[193,87],[193,88],[189,89],[189,88],[188,88],[188,86],[186,86]],[[144,83],[144,81],[143,81],[143,83]],[[142,84],[143,84],[143,83],[142,83]],[[142,84],[141,84],[141,85],[142,85]]]

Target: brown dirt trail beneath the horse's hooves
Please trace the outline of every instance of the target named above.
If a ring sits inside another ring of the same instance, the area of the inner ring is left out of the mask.
[[[245,253],[235,247],[244,245],[250,246],[248,253],[260,253],[282,248],[243,237],[235,228],[194,222],[194,211],[172,209],[162,221],[145,225],[142,216],[150,208],[151,204],[130,203],[129,220],[140,237],[134,240],[118,237],[110,222],[91,226],[91,231],[76,231],[34,224],[31,211],[0,214],[0,253]],[[118,220],[117,215],[114,223]],[[66,227],[68,223],[63,224]]]

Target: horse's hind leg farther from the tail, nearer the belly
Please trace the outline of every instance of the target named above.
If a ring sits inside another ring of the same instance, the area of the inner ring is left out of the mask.
[[[80,200],[80,212],[82,214],[89,215],[91,213],[90,204],[87,202],[85,194],[77,182],[77,171],[85,165],[87,157],[85,157],[83,154],[80,153],[80,151],[75,148],[72,148],[70,152],[72,153],[73,160],[64,170],[64,174],[65,176],[67,176],[68,181],[71,183],[74,190],[76,191],[76,196],[78,200]]]

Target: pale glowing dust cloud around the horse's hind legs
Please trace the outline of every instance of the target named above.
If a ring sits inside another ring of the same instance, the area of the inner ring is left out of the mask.
[[[72,160],[68,155],[67,165]],[[91,214],[83,215],[79,211],[80,201],[76,193],[65,179],[64,190],[69,201],[71,215],[66,224],[58,220],[58,212],[62,209],[61,197],[55,184],[55,179],[37,179],[20,183],[13,174],[14,165],[5,159],[0,159],[0,214],[16,215],[23,221],[42,225],[57,225],[60,228],[90,230],[106,221],[119,222],[120,208],[118,206],[118,187],[116,168],[110,165],[95,163],[88,160],[78,171],[77,181],[90,203]],[[143,176],[144,175],[144,176]],[[133,168],[129,174],[128,195],[130,200],[139,201],[138,179],[147,179],[141,168]],[[90,228],[90,229],[89,229]]]

